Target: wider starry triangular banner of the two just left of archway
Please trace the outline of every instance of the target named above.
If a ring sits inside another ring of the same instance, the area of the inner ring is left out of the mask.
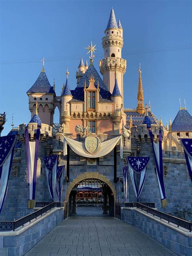
[[[44,157],[45,172],[49,193],[52,201],[55,196],[56,179],[57,179],[57,168],[58,168],[58,155]]]

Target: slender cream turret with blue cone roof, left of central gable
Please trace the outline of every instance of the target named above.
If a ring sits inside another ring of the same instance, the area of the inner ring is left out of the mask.
[[[69,132],[69,122],[70,122],[70,103],[69,101],[72,100],[73,96],[71,94],[70,91],[70,87],[68,84],[68,68],[67,68],[67,72],[66,72],[67,78],[66,78],[66,83],[65,83],[65,87],[62,93],[62,105],[61,105],[61,122],[65,124],[65,132],[68,133]]]

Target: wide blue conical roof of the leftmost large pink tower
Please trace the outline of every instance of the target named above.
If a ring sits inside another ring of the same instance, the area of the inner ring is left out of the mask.
[[[27,91],[27,94],[30,93],[51,93],[55,94],[53,86],[50,85],[49,80],[45,74],[45,71],[41,71],[40,75],[36,79],[32,87]]]

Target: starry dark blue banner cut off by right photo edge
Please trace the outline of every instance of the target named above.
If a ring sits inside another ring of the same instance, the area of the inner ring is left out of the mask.
[[[186,157],[187,168],[192,181],[192,139],[180,139]]]

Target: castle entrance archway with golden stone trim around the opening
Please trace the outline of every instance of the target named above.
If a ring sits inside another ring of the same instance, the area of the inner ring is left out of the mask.
[[[78,175],[66,191],[68,216],[102,214],[114,217],[116,190],[104,175],[84,173]]]

